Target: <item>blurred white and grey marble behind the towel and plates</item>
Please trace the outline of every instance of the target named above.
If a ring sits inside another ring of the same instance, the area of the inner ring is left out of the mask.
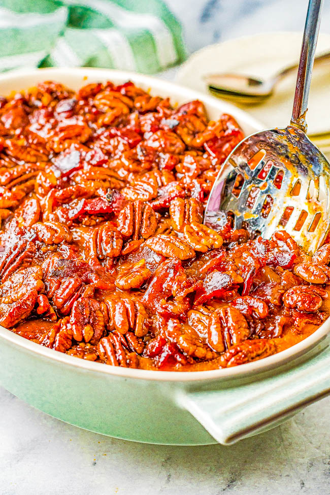
[[[189,53],[211,43],[269,31],[302,31],[307,0],[165,0],[183,25]],[[330,33],[325,0],[320,32]]]

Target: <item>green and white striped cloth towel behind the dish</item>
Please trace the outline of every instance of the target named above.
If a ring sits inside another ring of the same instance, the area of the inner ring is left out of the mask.
[[[161,0],[0,0],[0,72],[107,67],[147,74],[185,58]]]

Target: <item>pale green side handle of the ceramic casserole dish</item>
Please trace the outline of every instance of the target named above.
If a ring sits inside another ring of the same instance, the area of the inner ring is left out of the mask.
[[[230,445],[270,430],[330,393],[330,346],[302,365],[253,383],[181,391],[179,404],[214,437]]]

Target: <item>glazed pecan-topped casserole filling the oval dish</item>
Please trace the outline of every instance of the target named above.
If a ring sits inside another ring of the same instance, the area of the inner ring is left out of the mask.
[[[327,317],[330,245],[307,256],[203,225],[243,138],[199,101],[133,83],[0,98],[0,324],[109,365],[201,371],[281,351]],[[280,187],[281,184],[278,184]],[[235,192],[235,191],[234,191]]]

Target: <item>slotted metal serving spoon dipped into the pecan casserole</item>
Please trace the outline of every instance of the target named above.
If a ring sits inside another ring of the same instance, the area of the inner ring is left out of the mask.
[[[330,223],[330,164],[306,136],[308,93],[323,0],[309,0],[291,123],[245,138],[229,154],[213,185],[204,223],[219,228],[233,217],[270,238],[286,230],[307,252]]]

